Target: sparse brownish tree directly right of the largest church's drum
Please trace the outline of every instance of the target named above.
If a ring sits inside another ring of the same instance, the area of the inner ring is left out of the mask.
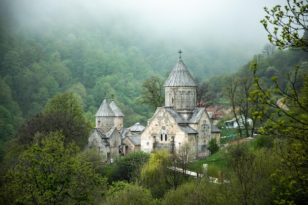
[[[214,95],[211,91],[210,84],[208,82],[202,82],[200,78],[194,79],[197,84],[196,90],[196,102],[198,108],[208,108],[214,103]]]

